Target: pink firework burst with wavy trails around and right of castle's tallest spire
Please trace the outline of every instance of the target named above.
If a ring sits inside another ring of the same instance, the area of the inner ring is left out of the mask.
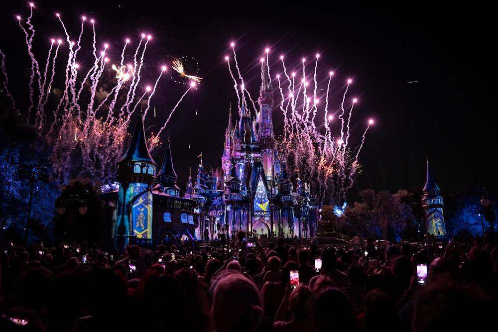
[[[232,70],[230,58],[226,57],[226,60],[239,99],[239,110],[242,105],[247,107],[248,104],[257,110],[245,88],[235,45],[231,47],[237,75]],[[281,156],[285,159],[287,171],[292,174],[292,170],[299,170],[301,179],[309,183],[311,193],[319,198],[321,204],[343,206],[346,193],[361,172],[358,157],[373,120],[368,120],[361,140],[353,139],[353,107],[358,100],[347,98],[352,80],[346,80],[340,106],[332,108],[330,99],[334,95],[332,78],[335,75],[334,72],[323,73],[318,69],[318,54],[310,65],[302,59],[294,72],[288,71],[283,56],[280,56],[277,61],[280,73],[272,76],[269,53],[266,49],[260,59],[261,79],[266,75],[276,82],[279,95],[276,97],[279,98],[275,98],[275,107],[282,111],[284,123],[278,144],[284,151]],[[357,145],[354,145],[355,142]]]

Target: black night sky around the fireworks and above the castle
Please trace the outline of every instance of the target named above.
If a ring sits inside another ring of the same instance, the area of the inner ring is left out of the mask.
[[[27,17],[29,8],[27,2],[7,2],[1,12],[0,49],[7,54],[15,45],[23,52],[23,35],[14,16]],[[233,7],[181,1],[178,6],[169,1],[162,6],[72,2],[35,2],[35,30],[40,39],[55,31],[63,36],[56,11],[68,26],[76,22],[76,28],[80,16],[86,14],[97,21],[97,35],[102,40],[149,31],[153,35],[147,53],[150,66],[178,55],[196,60],[190,62],[190,68],[198,67],[203,80],[182,101],[163,132],[171,140],[182,192],[189,167],[195,178],[199,153],[203,153],[206,167],[221,164],[229,107],[237,104],[224,57],[232,55],[230,42],[235,41],[244,80],[254,82],[249,88],[253,98],[259,88],[258,61],[267,46],[275,50],[274,61],[281,53],[296,63],[319,52],[319,67],[323,65],[324,71],[333,68],[342,79],[354,79],[349,96],[360,99],[354,111],[357,121],[372,116],[375,124],[359,155],[362,174],[352,197],[368,188],[391,192],[421,189],[426,156],[442,190],[476,184],[498,193],[497,55],[492,23],[496,8],[491,5],[404,2],[365,7],[258,2]],[[12,46],[10,50],[6,45]],[[156,110],[167,117],[185,90],[186,86],[169,78],[155,96]],[[343,90],[338,86],[339,94]],[[278,130],[281,111],[273,111],[273,117]],[[146,120],[148,125],[157,130],[157,121]],[[361,137],[364,127],[360,128],[353,135]],[[162,153],[153,155],[158,163]]]

